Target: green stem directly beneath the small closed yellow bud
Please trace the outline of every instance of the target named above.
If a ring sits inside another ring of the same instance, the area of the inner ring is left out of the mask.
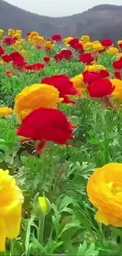
[[[41,244],[43,244],[44,225],[45,225],[45,215],[41,214],[39,217],[39,229],[38,229],[38,241]]]

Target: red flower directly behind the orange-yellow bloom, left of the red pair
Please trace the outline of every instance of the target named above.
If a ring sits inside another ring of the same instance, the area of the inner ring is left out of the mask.
[[[60,92],[60,97],[64,98],[63,103],[73,103],[67,95],[77,95],[78,91],[73,87],[72,81],[69,79],[68,76],[65,75],[58,75],[58,76],[52,76],[47,77],[43,79],[41,83],[46,83],[49,85],[53,85],[57,88],[57,90]],[[76,102],[74,102],[76,103]]]

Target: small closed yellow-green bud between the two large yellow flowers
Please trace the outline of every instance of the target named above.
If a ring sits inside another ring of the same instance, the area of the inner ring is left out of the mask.
[[[46,215],[50,212],[50,201],[45,196],[39,197],[39,206],[43,215]]]

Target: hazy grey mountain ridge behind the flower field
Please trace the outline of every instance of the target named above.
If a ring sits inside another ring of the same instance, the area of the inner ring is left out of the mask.
[[[8,2],[0,0],[0,26],[2,29],[21,29],[24,36],[38,31],[50,38],[63,36],[91,35],[92,39],[122,39],[122,6],[100,5],[68,17],[46,17],[30,13]]]

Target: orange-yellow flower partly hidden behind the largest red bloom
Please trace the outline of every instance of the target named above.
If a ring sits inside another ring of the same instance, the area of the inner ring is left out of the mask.
[[[19,117],[19,121],[28,116],[29,113],[39,108],[57,108],[57,104],[62,102],[59,98],[59,91],[54,86],[37,83],[30,87],[25,87],[17,95],[14,110]]]

